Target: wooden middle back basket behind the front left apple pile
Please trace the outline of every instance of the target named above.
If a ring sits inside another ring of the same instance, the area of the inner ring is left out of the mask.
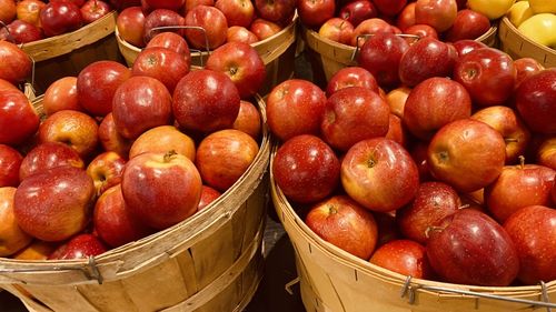
[[[294,77],[297,23],[298,18],[296,16],[294,21],[277,34],[251,44],[259,53],[267,70],[267,78],[259,90],[260,94],[268,94],[275,85]],[[125,41],[119,36],[118,29],[116,29],[116,38],[121,54],[128,66],[131,67],[141,49]],[[202,67],[208,56],[209,51],[192,51],[191,64]]]

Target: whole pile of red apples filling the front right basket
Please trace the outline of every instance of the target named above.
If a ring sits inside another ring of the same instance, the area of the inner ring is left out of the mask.
[[[276,87],[274,179],[316,234],[388,270],[487,286],[556,280],[556,69],[454,46],[381,32],[326,92]]]

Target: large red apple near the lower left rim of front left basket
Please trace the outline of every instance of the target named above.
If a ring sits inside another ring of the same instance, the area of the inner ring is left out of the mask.
[[[85,170],[57,167],[21,181],[13,211],[23,231],[56,242],[85,229],[93,199],[95,185]]]

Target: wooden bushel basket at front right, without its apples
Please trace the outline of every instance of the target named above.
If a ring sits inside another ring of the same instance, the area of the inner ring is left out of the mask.
[[[409,279],[371,264],[315,234],[288,203],[271,172],[270,191],[277,214],[296,251],[301,299],[307,311],[549,311],[546,306],[532,308],[532,301],[556,308],[556,281],[532,286],[473,286]],[[522,300],[525,302],[513,302]]]

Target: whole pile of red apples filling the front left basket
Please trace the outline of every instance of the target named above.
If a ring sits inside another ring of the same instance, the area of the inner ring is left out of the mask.
[[[41,120],[0,77],[0,256],[80,259],[139,240],[205,209],[256,159],[257,51],[226,43],[190,71],[183,38],[153,40],[171,48],[53,82]]]

